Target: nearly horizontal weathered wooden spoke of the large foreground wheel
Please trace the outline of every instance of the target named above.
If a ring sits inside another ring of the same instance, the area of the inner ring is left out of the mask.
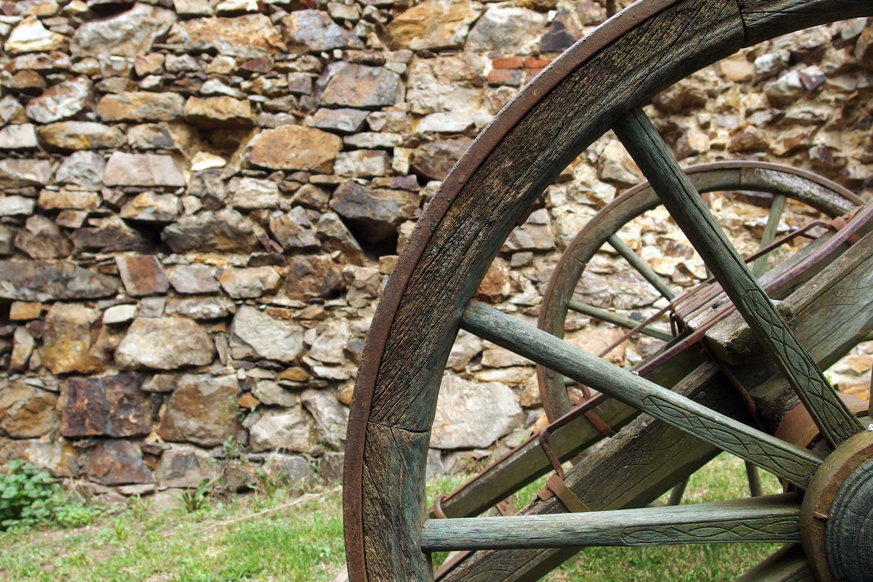
[[[424,551],[800,541],[793,493],[716,503],[550,516],[428,519]]]

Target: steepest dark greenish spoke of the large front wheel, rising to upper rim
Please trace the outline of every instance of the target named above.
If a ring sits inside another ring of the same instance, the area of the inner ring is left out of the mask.
[[[614,129],[670,216],[710,266],[737,311],[785,374],[821,434],[837,446],[863,430],[861,422],[837,396],[791,327],[776,312],[645,113],[639,108],[630,111]]]

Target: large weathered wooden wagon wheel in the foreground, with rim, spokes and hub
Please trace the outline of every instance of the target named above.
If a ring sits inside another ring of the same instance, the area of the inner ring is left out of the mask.
[[[864,478],[873,432],[828,385],[636,107],[742,46],[871,13],[869,0],[643,0],[571,47],[498,114],[416,225],[368,334],[344,475],[351,580],[432,579],[429,552],[442,549],[797,541],[801,531],[820,578],[833,572],[853,582],[868,579],[869,548],[844,532],[870,527],[856,517],[873,499]],[[835,447],[825,461],[471,302],[513,223],[609,127]],[[855,234],[870,214],[869,208],[857,213],[841,236]],[[856,247],[863,250],[869,240]],[[802,507],[800,496],[789,494],[621,514],[426,520],[430,424],[458,327],[794,483],[807,490]],[[820,519],[831,509],[839,527]],[[704,540],[705,531],[711,535]]]

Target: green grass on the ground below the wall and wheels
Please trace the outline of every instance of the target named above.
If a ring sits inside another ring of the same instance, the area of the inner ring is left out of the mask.
[[[762,476],[767,493],[780,491]],[[429,502],[465,476],[443,477],[428,487]],[[519,506],[536,494],[533,483],[517,494]],[[684,503],[747,496],[738,459],[721,455],[691,478]],[[250,517],[262,511],[256,517]],[[155,511],[134,504],[106,513],[77,530],[0,533],[0,579],[68,582],[323,582],[344,561],[341,496],[313,491],[210,500],[195,513]],[[663,582],[732,580],[766,558],[773,544],[721,544],[656,548],[589,548],[551,574],[550,582]]]

